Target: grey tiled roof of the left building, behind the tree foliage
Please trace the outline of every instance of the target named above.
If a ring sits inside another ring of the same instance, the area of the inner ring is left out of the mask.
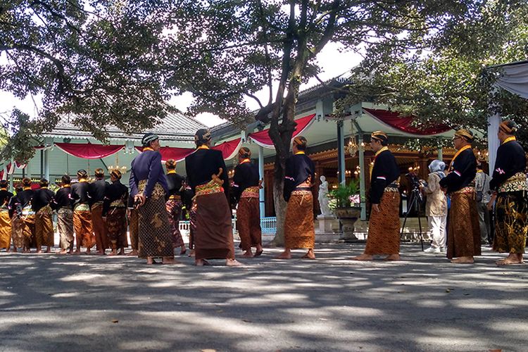
[[[175,142],[194,142],[194,133],[201,128],[206,128],[206,125],[203,125],[201,122],[194,120],[194,118],[190,118],[183,113],[170,113],[163,118],[158,125],[150,130],[140,131],[130,135],[119,130],[117,127],[111,125],[107,127],[110,139],[142,139],[144,133],[153,132],[158,134],[162,140],[165,139]],[[44,132],[43,136],[73,139],[86,139],[93,137],[92,133],[82,131],[79,127],[73,125],[68,117],[60,120],[56,127],[50,132]]]

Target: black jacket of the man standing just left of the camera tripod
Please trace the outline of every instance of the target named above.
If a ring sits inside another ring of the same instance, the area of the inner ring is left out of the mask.
[[[391,151],[385,150],[375,156],[372,175],[370,175],[370,203],[379,204],[384,196],[385,187],[400,177],[400,168]]]

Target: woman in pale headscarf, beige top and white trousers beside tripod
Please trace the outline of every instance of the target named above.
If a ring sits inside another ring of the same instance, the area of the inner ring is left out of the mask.
[[[420,184],[420,188],[427,196],[425,203],[425,216],[429,222],[431,232],[431,246],[425,253],[441,253],[446,251],[446,221],[447,198],[440,187],[440,180],[446,177],[444,161],[434,160],[429,164],[429,177],[427,184]]]

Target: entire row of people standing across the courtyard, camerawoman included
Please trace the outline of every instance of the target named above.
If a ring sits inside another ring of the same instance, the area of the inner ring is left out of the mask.
[[[528,230],[528,184],[526,157],[515,139],[517,125],[512,121],[501,123],[494,171],[489,183],[494,206],[496,229],[493,247],[500,253],[509,253],[498,265],[522,263]],[[1,241],[6,238],[6,228],[13,236],[14,249],[27,251],[27,241],[34,229],[37,252],[42,246],[47,251],[53,245],[51,211],[57,210],[58,230],[61,234],[60,253],[80,253],[81,246],[89,253],[94,244],[103,254],[110,241],[111,254],[117,249],[123,253],[127,246],[127,211],[130,222],[132,255],[145,258],[147,264],[175,263],[174,249],[186,249],[179,231],[178,221],[183,202],[189,211],[190,241],[196,265],[209,265],[208,259],[221,258],[226,265],[241,265],[234,256],[231,225],[231,199],[237,204],[237,227],[244,257],[263,253],[258,193],[262,187],[258,168],[251,163],[251,151],[239,150],[239,164],[234,169],[233,185],[227,176],[222,153],[210,149],[208,130],[198,130],[194,136],[196,151],[187,156],[187,180],[175,172],[176,163],[165,163],[163,171],[160,142],[156,134],[147,133],[142,138],[143,151],[132,161],[130,196],[120,183],[120,172],[111,172],[111,184],[103,180],[103,170],[96,170],[96,182],[87,183],[84,170],[77,172],[79,182],[70,185],[70,177],[63,176],[62,187],[56,194],[47,189],[42,180],[40,189],[30,190],[30,180],[23,180],[23,189],[16,196],[7,191],[7,183],[0,183],[0,248],[9,247]],[[446,214],[427,209],[435,246],[446,246],[451,263],[474,263],[481,254],[481,234],[475,197],[477,158],[472,150],[474,136],[469,130],[458,130],[453,137],[457,152],[447,172],[443,162],[429,166],[429,184],[424,188],[430,199],[441,203],[444,194],[451,198],[447,226],[447,244],[442,231],[446,227]],[[294,138],[293,155],[287,160],[284,179],[284,200],[287,213],[284,226],[285,249],[277,257],[291,258],[292,249],[306,249],[302,258],[315,259],[315,231],[313,219],[313,182],[315,167],[306,155],[308,141],[302,136]],[[370,221],[365,251],[354,260],[372,260],[375,255],[386,255],[386,260],[400,260],[400,220],[398,179],[400,170],[388,148],[389,137],[382,131],[373,132],[370,146],[375,152],[371,174]],[[437,165],[438,164],[438,165]],[[436,178],[438,180],[436,180]],[[184,196],[184,189],[191,198]],[[231,196],[230,196],[231,194]],[[187,201],[186,201],[187,199]],[[444,229],[442,229],[444,227]],[[77,248],[73,252],[73,229]],[[93,232],[92,232],[93,230]],[[445,231],[444,231],[445,232]],[[103,234],[108,233],[108,237]],[[442,236],[443,239],[442,239]],[[95,242],[95,243],[94,243]],[[443,243],[442,243],[443,242]],[[256,248],[253,254],[252,248]],[[439,250],[440,251],[440,250]]]

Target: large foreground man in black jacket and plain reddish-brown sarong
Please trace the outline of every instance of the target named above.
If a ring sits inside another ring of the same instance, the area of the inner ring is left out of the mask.
[[[196,151],[185,158],[189,185],[194,191],[196,231],[194,263],[208,265],[207,259],[225,259],[237,266],[234,258],[229,178],[221,151],[210,149],[208,130],[194,135]]]

